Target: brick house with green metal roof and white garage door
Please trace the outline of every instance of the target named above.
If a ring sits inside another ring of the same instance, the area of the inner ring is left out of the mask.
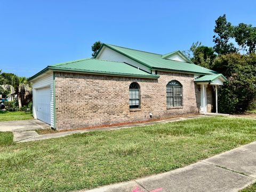
[[[34,117],[61,130],[211,113],[227,79],[180,51],[103,44],[95,58],[47,66],[29,81]]]

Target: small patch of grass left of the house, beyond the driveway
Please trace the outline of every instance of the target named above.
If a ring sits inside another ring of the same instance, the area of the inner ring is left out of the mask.
[[[26,114],[24,111],[0,111],[0,122],[33,119],[31,113]]]

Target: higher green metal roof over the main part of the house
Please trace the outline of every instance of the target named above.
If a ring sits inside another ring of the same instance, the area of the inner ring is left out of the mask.
[[[217,74],[217,72],[213,70],[206,69],[204,67],[195,65],[193,63],[163,59],[162,54],[133,50],[133,49],[116,46],[116,45],[110,45],[110,44],[103,44],[101,46],[101,49],[103,46],[107,46],[110,49],[125,55],[126,57],[129,57],[137,62],[140,62],[142,65],[148,66],[151,69],[172,70],[172,71],[178,71],[181,73],[186,72],[186,73],[193,73],[193,74]],[[170,55],[174,53],[175,52],[168,53],[168,54]],[[97,55],[95,56],[95,58],[97,58]]]

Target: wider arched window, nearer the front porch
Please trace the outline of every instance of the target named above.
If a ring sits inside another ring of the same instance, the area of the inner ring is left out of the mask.
[[[170,81],[166,85],[167,107],[182,106],[182,85],[178,81]]]

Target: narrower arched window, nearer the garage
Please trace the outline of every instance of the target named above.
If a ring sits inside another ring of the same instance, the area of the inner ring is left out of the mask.
[[[129,87],[130,109],[140,108],[140,86],[138,83],[131,83]]]

